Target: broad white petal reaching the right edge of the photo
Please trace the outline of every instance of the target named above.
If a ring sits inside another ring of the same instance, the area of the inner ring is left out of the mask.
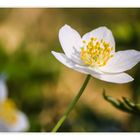
[[[120,73],[131,69],[140,62],[140,52],[135,50],[118,51],[104,67],[103,72]]]

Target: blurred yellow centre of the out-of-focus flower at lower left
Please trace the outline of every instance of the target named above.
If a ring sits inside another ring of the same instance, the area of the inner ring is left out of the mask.
[[[13,101],[7,99],[0,102],[0,120],[9,125],[13,125],[17,121],[16,107]]]

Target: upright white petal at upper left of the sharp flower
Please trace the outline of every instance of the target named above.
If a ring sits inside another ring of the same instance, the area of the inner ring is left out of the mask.
[[[80,47],[82,47],[82,40],[79,33],[68,25],[64,25],[59,30],[59,40],[68,58],[72,58],[76,51],[79,51]]]

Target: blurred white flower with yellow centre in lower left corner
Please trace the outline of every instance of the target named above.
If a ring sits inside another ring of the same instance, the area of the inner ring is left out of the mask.
[[[0,78],[0,132],[26,131],[29,123],[26,115],[7,98],[5,80]]]

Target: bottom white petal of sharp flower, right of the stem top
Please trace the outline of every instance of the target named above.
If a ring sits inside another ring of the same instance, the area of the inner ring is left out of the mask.
[[[110,82],[110,83],[118,83],[118,84],[122,84],[122,83],[128,83],[133,81],[134,79],[126,74],[126,73],[119,73],[119,74],[100,74],[100,75],[94,75],[92,74],[93,77],[106,81],[106,82]]]

